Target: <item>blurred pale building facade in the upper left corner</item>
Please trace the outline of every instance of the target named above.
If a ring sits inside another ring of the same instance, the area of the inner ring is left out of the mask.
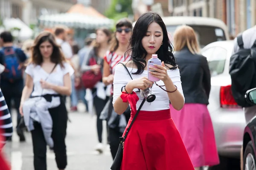
[[[27,25],[36,24],[41,14],[66,12],[77,0],[0,0],[0,17],[20,18]]]

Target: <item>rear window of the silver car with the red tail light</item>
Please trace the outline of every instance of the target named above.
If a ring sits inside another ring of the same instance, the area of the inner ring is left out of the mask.
[[[208,48],[202,52],[207,57],[211,77],[222,74],[227,58],[227,50],[222,47]]]

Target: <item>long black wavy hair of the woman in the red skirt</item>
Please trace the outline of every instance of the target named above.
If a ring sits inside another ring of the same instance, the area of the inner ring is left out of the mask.
[[[147,65],[145,61],[147,51],[143,48],[142,39],[145,37],[148,31],[149,24],[153,22],[159,24],[163,30],[163,45],[161,45],[156,52],[158,58],[165,64],[170,64],[173,66],[169,69],[177,68],[175,57],[172,54],[172,44],[169,40],[166,26],[163,23],[162,18],[157,13],[147,12],[141,15],[137,20],[131,35],[129,49],[125,52],[125,56],[130,54],[131,60],[137,66],[138,70],[133,74],[142,74]]]

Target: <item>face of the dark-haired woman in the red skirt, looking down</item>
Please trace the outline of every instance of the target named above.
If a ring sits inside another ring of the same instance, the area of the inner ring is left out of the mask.
[[[157,23],[151,23],[142,39],[143,48],[148,54],[155,54],[163,42],[163,30]]]

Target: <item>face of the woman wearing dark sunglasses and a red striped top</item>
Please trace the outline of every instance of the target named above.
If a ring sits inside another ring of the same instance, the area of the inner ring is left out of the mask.
[[[116,28],[116,39],[118,40],[119,44],[127,45],[130,37],[131,28],[128,28],[126,26]]]

